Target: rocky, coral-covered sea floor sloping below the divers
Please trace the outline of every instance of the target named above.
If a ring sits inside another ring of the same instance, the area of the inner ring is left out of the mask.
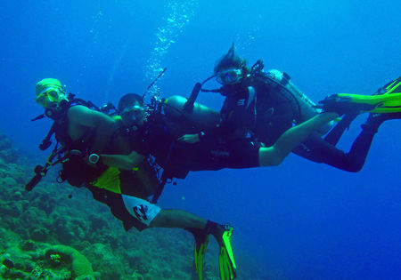
[[[169,228],[126,232],[85,188],[57,183],[55,171],[27,192],[35,164],[42,163],[21,157],[0,135],[1,279],[198,279],[191,234]],[[204,278],[217,280],[212,239]],[[238,279],[257,278],[238,257],[237,266]]]

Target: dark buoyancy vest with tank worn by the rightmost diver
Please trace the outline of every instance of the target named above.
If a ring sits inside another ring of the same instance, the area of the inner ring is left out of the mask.
[[[276,69],[265,72],[262,68],[263,62],[258,60],[243,83],[257,92],[255,138],[270,146],[291,126],[305,122],[319,111],[315,103],[291,83],[288,74]],[[323,125],[317,133],[329,132],[332,124]]]

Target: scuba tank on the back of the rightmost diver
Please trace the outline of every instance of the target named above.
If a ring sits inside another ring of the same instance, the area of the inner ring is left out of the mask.
[[[258,73],[266,78],[266,83],[281,85],[282,91],[280,93],[284,94],[289,99],[295,100],[299,108],[299,113],[296,115],[296,119],[294,120],[295,124],[303,123],[311,117],[319,114],[319,111],[315,108],[315,102],[310,100],[307,95],[299,90],[297,86],[291,83],[291,76],[289,76],[287,73],[280,72],[276,69],[271,69],[267,72],[261,70]],[[324,124],[317,132],[323,135],[331,130],[333,124],[333,121],[328,124]]]

